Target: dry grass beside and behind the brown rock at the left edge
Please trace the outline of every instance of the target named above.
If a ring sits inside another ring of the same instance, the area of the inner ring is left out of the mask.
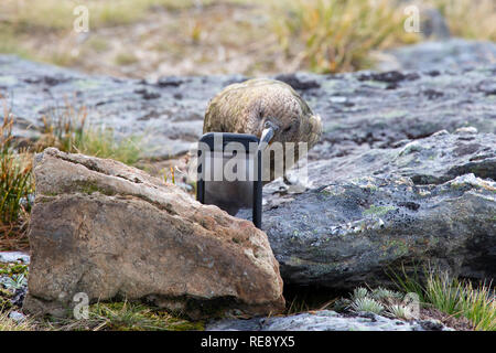
[[[69,153],[110,158],[134,164],[141,156],[140,138],[116,139],[114,130],[87,125],[85,107],[66,106],[43,118],[41,138],[24,150],[13,140],[14,118],[4,106],[0,120],[0,250],[29,248],[28,225],[34,196],[33,152],[56,147]]]

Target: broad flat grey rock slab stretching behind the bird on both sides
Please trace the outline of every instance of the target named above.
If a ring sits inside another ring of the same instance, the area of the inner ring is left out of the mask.
[[[477,45],[492,52],[494,44]],[[420,56],[410,55],[416,62]],[[424,68],[274,78],[296,89],[322,118],[323,138],[311,150],[312,159],[391,147],[442,129],[453,132],[473,126],[481,132],[496,132],[494,63],[475,61],[473,67],[457,71]],[[43,115],[54,110],[60,115],[68,100],[75,107],[86,106],[90,124],[105,124],[118,137],[143,136],[143,153],[154,158],[170,158],[194,147],[208,100],[244,79],[239,75],[118,79],[0,55],[0,89],[9,94],[17,116],[15,135],[39,135],[32,127],[43,126]]]

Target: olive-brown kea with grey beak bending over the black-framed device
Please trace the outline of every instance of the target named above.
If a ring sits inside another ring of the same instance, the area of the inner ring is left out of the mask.
[[[212,98],[203,124],[203,133],[207,132],[257,136],[262,153],[269,153],[270,162],[263,165],[265,175],[269,175],[263,180],[267,183],[284,176],[299,160],[299,142],[306,142],[310,150],[319,141],[322,122],[290,85],[277,79],[254,78],[231,84]],[[270,153],[267,146],[273,142],[281,143],[284,158],[277,160],[276,153]],[[294,143],[293,150],[285,148],[288,142]],[[294,154],[289,161],[287,150]],[[282,168],[276,168],[277,163]],[[206,183],[205,202],[235,215],[240,207],[251,205],[251,186],[246,182],[211,182],[209,186]]]

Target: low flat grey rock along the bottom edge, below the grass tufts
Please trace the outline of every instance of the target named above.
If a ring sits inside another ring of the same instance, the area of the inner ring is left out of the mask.
[[[321,310],[289,317],[224,320],[208,324],[209,331],[450,331],[440,322],[389,319],[374,313],[343,315]]]

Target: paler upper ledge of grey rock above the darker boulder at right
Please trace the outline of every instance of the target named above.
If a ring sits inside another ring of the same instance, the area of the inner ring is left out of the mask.
[[[474,173],[496,180],[496,135],[474,129],[438,131],[390,148],[355,150],[308,164],[309,182],[321,186],[358,176],[408,176],[416,184],[439,184]]]

